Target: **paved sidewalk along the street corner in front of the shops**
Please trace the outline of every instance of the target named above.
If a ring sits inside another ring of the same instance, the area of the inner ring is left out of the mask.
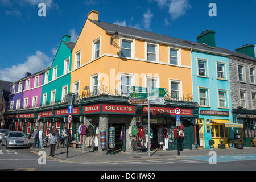
[[[38,148],[31,148],[31,151],[40,151]],[[44,150],[49,156],[50,148],[47,146]],[[189,158],[194,156],[208,156],[210,149],[200,150],[184,150],[181,151],[180,156],[177,156],[177,151],[155,150],[150,151],[150,159],[170,159],[170,158]],[[245,147],[243,150],[236,148],[218,149],[214,148],[217,155],[236,155],[236,154],[256,154],[256,148]],[[148,152],[134,153],[134,152],[118,152],[115,155],[100,155],[97,151],[82,151],[80,149],[69,148],[68,158],[67,148],[59,148],[55,151],[55,158],[59,160],[68,160],[72,162],[114,162],[123,160],[144,160],[148,159]]]

